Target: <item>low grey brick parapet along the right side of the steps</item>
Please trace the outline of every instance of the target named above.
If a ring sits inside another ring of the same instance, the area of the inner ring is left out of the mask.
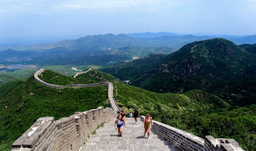
[[[141,115],[140,120],[145,116]],[[197,150],[197,151],[242,151],[235,139],[214,139],[211,135],[205,139],[190,134],[179,128],[174,128],[162,122],[153,121],[152,129],[161,137],[166,139],[177,150]]]

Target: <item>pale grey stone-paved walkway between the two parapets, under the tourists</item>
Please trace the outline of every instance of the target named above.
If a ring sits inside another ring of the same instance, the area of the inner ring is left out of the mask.
[[[143,137],[142,121],[135,123],[133,118],[126,118],[126,127],[122,137],[118,137],[118,130],[114,129],[114,120],[105,123],[103,127],[91,135],[90,139],[81,146],[80,151],[116,150],[116,151],[167,151],[175,150],[167,141],[151,130],[150,139]],[[147,135],[147,134],[146,134]]]

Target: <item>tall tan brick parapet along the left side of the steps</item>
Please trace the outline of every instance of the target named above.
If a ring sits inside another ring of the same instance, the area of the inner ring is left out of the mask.
[[[79,150],[88,136],[116,113],[111,108],[76,112],[70,117],[54,121],[54,117],[40,117],[13,144],[11,151]]]

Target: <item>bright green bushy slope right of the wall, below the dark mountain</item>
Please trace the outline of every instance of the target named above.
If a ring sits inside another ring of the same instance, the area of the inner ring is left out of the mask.
[[[114,84],[114,97],[127,111],[142,115],[186,132],[205,137],[233,138],[246,150],[255,150],[256,105],[230,107],[224,100],[192,90],[184,94],[155,93],[125,84]]]

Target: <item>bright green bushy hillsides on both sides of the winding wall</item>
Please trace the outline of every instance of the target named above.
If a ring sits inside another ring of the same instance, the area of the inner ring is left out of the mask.
[[[86,76],[71,78],[47,70],[40,78],[52,84],[63,85],[105,80],[118,82],[114,83],[114,97],[118,105],[127,112],[139,110],[141,114],[151,113],[157,121],[201,137],[213,135],[234,138],[247,150],[255,145],[255,106],[233,108],[219,97],[199,89],[183,94],[155,93],[122,84],[113,76],[99,71],[90,71]],[[10,150],[10,144],[38,117],[54,116],[59,119],[75,111],[108,106],[105,86],[54,89],[38,84],[33,76],[21,84],[10,83],[11,87],[14,85],[16,88],[12,91],[7,88],[0,91],[0,94],[4,94],[0,100],[0,150]],[[227,128],[228,131],[220,131]]]

